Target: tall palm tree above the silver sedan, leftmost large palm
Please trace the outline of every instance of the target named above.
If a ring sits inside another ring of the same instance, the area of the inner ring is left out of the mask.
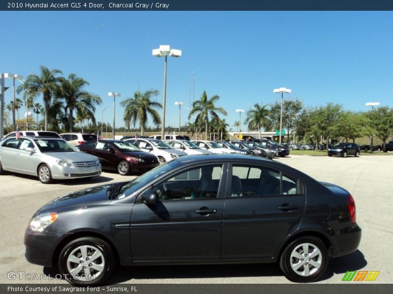
[[[52,96],[58,92],[59,78],[56,74],[61,74],[59,70],[49,70],[46,66],[40,66],[40,75],[31,73],[26,81],[18,87],[17,92],[28,91],[32,97],[43,95],[45,107],[45,130],[48,130],[49,107]]]

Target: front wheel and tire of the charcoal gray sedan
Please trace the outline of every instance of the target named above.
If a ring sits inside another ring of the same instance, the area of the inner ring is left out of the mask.
[[[86,249],[86,257],[83,257],[83,248]],[[93,254],[99,257],[89,260]],[[73,262],[71,255],[74,260],[79,258],[82,262]],[[61,250],[58,259],[60,273],[73,285],[102,284],[112,274],[114,266],[115,259],[111,245],[95,237],[83,237],[71,241]]]

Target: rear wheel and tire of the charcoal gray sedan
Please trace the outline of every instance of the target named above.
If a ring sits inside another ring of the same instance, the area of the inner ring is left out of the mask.
[[[306,245],[309,248],[307,253],[303,250]],[[309,254],[314,255],[309,257]],[[296,256],[304,258],[299,259]],[[301,264],[301,266],[294,269],[297,264]],[[291,242],[285,247],[280,257],[280,268],[285,277],[296,283],[309,283],[319,279],[325,273],[328,264],[329,256],[326,246],[316,237],[301,237]],[[318,266],[319,268],[317,268]],[[309,271],[308,275],[307,270]]]

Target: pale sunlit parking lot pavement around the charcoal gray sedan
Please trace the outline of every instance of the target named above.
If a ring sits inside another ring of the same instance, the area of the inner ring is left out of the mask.
[[[328,157],[302,156],[275,159],[320,181],[347,189],[355,199],[357,222],[363,229],[359,249],[334,259],[330,272],[318,283],[340,283],[347,270],[377,270],[373,283],[392,283],[392,167],[393,156]],[[8,272],[54,276],[56,270],[29,264],[23,244],[24,231],[34,212],[46,202],[69,192],[123,181],[134,176],[104,172],[89,180],[41,184],[37,178],[6,174],[0,176],[0,283],[64,283],[62,280],[15,280]],[[161,266],[117,268],[110,283],[289,283],[276,264]]]

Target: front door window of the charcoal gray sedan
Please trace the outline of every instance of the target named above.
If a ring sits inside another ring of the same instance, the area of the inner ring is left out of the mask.
[[[209,165],[180,172],[153,188],[159,200],[217,198],[222,165]]]

